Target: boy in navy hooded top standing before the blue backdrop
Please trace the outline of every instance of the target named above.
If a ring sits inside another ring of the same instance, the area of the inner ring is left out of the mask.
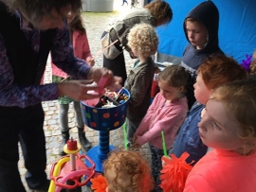
[[[193,83],[196,70],[208,56],[224,54],[219,47],[219,10],[211,1],[205,1],[192,9],[184,21],[184,31],[188,44],[184,50],[181,65],[191,73],[187,87],[189,109],[195,101]]]

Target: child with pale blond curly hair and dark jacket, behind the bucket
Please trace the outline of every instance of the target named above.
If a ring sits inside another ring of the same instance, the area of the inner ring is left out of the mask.
[[[148,24],[137,24],[128,34],[128,46],[137,57],[124,87],[130,92],[127,108],[127,138],[133,143],[134,133],[150,106],[152,80],[155,74],[155,63],[151,56],[155,54],[158,38],[155,28]]]

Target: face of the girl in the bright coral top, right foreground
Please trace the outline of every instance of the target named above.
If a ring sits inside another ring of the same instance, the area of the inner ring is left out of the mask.
[[[221,101],[207,102],[206,111],[198,123],[199,135],[206,146],[224,150],[242,148],[242,140],[237,135],[238,124],[230,113]]]

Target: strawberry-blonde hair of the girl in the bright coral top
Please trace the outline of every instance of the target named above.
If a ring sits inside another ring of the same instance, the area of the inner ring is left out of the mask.
[[[239,124],[240,138],[256,139],[256,81],[229,82],[217,88],[210,99],[224,103],[228,115]]]

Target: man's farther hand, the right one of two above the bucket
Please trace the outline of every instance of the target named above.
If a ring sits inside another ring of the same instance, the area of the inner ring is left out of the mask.
[[[107,79],[104,87],[107,87],[111,91],[117,91],[121,88],[122,79],[114,77],[112,71],[104,67],[93,67],[90,69],[88,79],[93,79],[95,82],[99,82],[101,78]]]

